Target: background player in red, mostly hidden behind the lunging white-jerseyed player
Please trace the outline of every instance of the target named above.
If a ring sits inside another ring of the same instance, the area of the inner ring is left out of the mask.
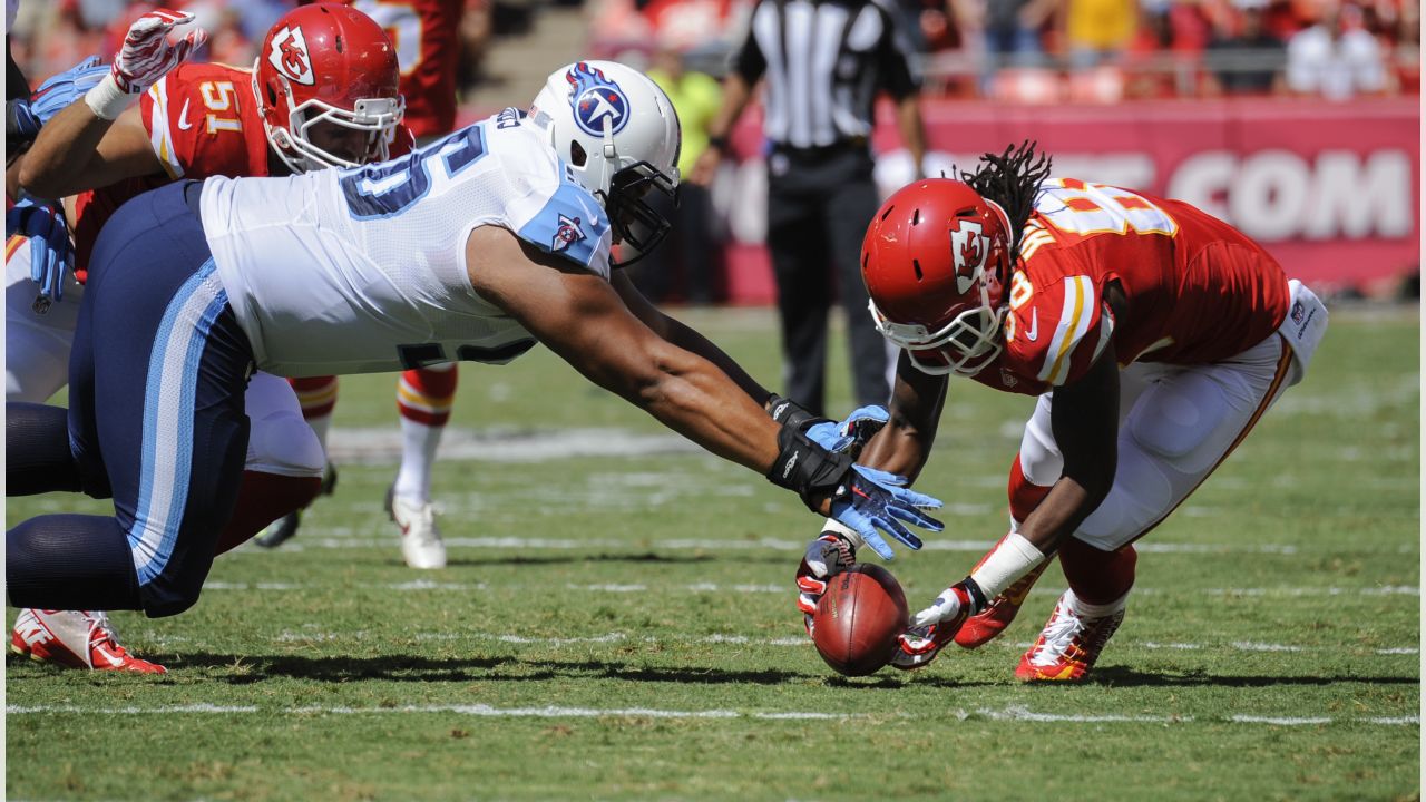
[[[465,0],[351,0],[386,31],[401,64],[405,124],[419,144],[455,130],[455,78],[461,56],[458,33]],[[401,552],[412,568],[445,568],[445,542],[431,502],[436,448],[451,421],[459,378],[455,362],[412,368],[396,381],[401,414],[401,467],[386,492],[386,514],[401,531]],[[337,377],[294,378],[302,415],[324,448],[337,407]],[[335,475],[329,471],[328,475]],[[268,527],[260,545],[277,547],[297,534],[299,512]]]

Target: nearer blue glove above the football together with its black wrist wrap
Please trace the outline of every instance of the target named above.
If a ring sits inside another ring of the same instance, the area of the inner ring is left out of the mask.
[[[896,552],[881,532],[908,548],[921,548],[921,538],[911,534],[903,521],[933,532],[945,528],[921,512],[940,508],[941,502],[908,489],[904,477],[856,465],[851,457],[827,451],[793,425],[784,425],[777,432],[777,448],[779,455],[767,479],[797,491],[813,512],[820,512],[823,502],[830,499],[831,517],[856,531],[883,559],[894,559]]]

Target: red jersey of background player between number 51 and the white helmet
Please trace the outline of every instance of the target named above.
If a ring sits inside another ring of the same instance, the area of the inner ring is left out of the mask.
[[[406,127],[416,137],[455,130],[455,71],[465,0],[354,0],[391,37],[401,64]]]

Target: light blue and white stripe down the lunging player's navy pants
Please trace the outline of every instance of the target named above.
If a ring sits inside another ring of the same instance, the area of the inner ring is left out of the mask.
[[[138,505],[128,548],[147,585],[173,557],[193,477],[193,420],[202,350],[228,294],[205,261],[174,293],[154,334],[144,388],[143,461]]]

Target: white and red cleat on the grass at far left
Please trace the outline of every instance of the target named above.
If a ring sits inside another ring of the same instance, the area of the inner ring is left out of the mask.
[[[168,672],[128,654],[108,615],[93,609],[21,609],[10,631],[10,649],[34,661],[88,671]]]

